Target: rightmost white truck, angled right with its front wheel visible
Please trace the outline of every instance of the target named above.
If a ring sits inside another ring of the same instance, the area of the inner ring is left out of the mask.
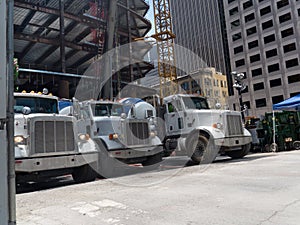
[[[198,163],[211,163],[218,153],[242,158],[251,134],[240,112],[209,109],[206,98],[177,94],[164,98],[165,152],[185,153]]]

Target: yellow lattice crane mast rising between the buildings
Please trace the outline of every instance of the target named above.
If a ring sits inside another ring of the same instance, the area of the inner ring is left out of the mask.
[[[160,97],[178,92],[174,38],[169,0],[153,0],[155,34],[157,42],[158,75],[160,77]]]

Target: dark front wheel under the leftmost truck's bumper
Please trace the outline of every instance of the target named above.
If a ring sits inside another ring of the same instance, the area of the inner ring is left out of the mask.
[[[94,181],[97,177],[96,172],[90,165],[80,166],[74,169],[72,173],[73,180],[76,183]]]

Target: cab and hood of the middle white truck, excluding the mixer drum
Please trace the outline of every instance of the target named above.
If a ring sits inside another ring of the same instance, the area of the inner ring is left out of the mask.
[[[128,114],[123,103],[85,101],[81,109],[91,115],[99,138],[109,156],[124,163],[150,165],[162,160],[162,143],[151,126],[151,118]],[[134,106],[132,106],[134,108]]]

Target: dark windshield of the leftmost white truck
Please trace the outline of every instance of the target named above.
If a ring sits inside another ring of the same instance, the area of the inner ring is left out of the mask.
[[[57,105],[56,99],[15,97],[14,112],[22,113],[22,109],[27,106],[31,109],[31,113],[58,113]]]

